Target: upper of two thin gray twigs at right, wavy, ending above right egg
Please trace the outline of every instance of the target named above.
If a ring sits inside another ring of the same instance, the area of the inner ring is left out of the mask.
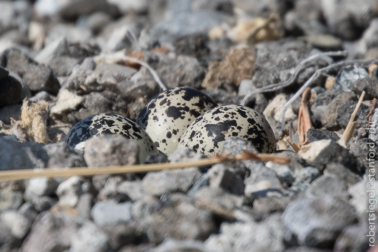
[[[346,51],[337,51],[337,52],[326,52],[326,53],[319,53],[319,54],[315,54],[313,56],[310,56],[306,59],[303,59],[299,65],[297,66],[297,69],[295,70],[295,73],[294,75],[289,78],[289,80],[285,81],[285,82],[281,82],[281,83],[275,83],[275,84],[270,84],[270,85],[267,85],[263,88],[258,88],[256,90],[254,90],[253,92],[251,93],[248,93],[242,100],[241,102],[241,105],[246,105],[247,101],[254,95],[254,94],[259,94],[259,93],[268,93],[268,92],[274,92],[274,91],[278,91],[278,90],[281,90],[285,87],[288,87],[290,85],[292,85],[298,78],[299,74],[301,73],[303,67],[305,64],[307,64],[308,62],[311,62],[315,59],[318,59],[318,58],[321,58],[323,59],[324,61],[326,61],[328,64],[331,64],[332,62],[330,60],[328,60],[326,58],[326,56],[347,56],[347,52]]]

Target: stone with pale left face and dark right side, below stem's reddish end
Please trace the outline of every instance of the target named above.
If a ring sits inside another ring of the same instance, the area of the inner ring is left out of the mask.
[[[231,194],[244,194],[243,179],[228,170],[223,164],[215,164],[208,170],[209,184],[211,187],[219,187],[227,190]]]

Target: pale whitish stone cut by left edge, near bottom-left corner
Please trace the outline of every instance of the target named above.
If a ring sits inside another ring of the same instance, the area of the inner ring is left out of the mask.
[[[2,212],[0,222],[9,228],[12,235],[18,239],[24,238],[32,227],[32,221],[16,210]]]

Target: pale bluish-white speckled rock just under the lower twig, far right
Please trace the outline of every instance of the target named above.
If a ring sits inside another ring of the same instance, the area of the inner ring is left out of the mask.
[[[350,92],[352,91],[352,82],[360,78],[369,78],[369,73],[364,68],[357,66],[343,67],[336,76],[334,89]]]

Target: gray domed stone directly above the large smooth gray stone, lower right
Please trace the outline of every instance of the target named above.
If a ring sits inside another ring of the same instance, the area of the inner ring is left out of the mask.
[[[347,187],[338,176],[322,175],[314,180],[306,190],[307,197],[331,196],[348,201]]]

